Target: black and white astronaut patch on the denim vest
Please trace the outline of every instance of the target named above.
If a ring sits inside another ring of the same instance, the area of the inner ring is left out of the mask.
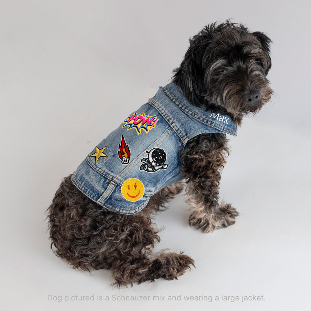
[[[168,165],[165,163],[166,153],[163,149],[153,148],[146,151],[146,153],[148,153],[148,157],[142,158],[141,162],[143,164],[139,168],[141,171],[153,173],[159,169],[167,169]]]

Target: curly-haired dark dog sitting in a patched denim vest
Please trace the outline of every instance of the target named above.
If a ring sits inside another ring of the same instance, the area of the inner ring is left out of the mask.
[[[190,225],[211,232],[234,224],[238,212],[219,203],[225,134],[270,100],[271,42],[230,21],[190,39],[172,82],[63,179],[48,208],[55,253],[75,268],[111,268],[118,286],[172,280],[194,265],[183,253],[152,253],[160,241],[152,215],[185,179]]]

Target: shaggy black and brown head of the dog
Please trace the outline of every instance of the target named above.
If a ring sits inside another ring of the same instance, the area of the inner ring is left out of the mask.
[[[190,39],[173,81],[192,104],[228,113],[239,123],[271,98],[266,77],[271,43],[265,34],[251,33],[244,25],[213,23]]]

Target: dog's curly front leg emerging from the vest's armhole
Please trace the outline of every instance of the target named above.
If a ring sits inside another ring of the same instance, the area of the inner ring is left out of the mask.
[[[204,232],[225,228],[235,223],[239,213],[230,204],[219,204],[220,172],[229,154],[223,134],[201,134],[189,140],[181,152],[186,175],[186,201],[193,210],[189,224]]]

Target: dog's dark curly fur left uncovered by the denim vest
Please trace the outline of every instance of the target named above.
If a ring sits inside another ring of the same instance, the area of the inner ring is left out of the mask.
[[[271,43],[266,35],[251,33],[244,25],[213,23],[190,39],[173,82],[190,103],[228,114],[239,126],[246,114],[258,112],[271,98],[266,77],[271,68]],[[193,211],[189,224],[204,232],[232,225],[238,216],[230,204],[219,203],[220,172],[228,154],[227,139],[221,133],[200,134],[180,153],[189,197],[186,202]],[[142,211],[124,215],[91,201],[68,176],[48,208],[51,247],[75,268],[111,268],[118,286],[177,278],[194,262],[183,253],[153,255],[152,248],[160,238],[151,219],[182,189],[183,182],[165,187]]]

